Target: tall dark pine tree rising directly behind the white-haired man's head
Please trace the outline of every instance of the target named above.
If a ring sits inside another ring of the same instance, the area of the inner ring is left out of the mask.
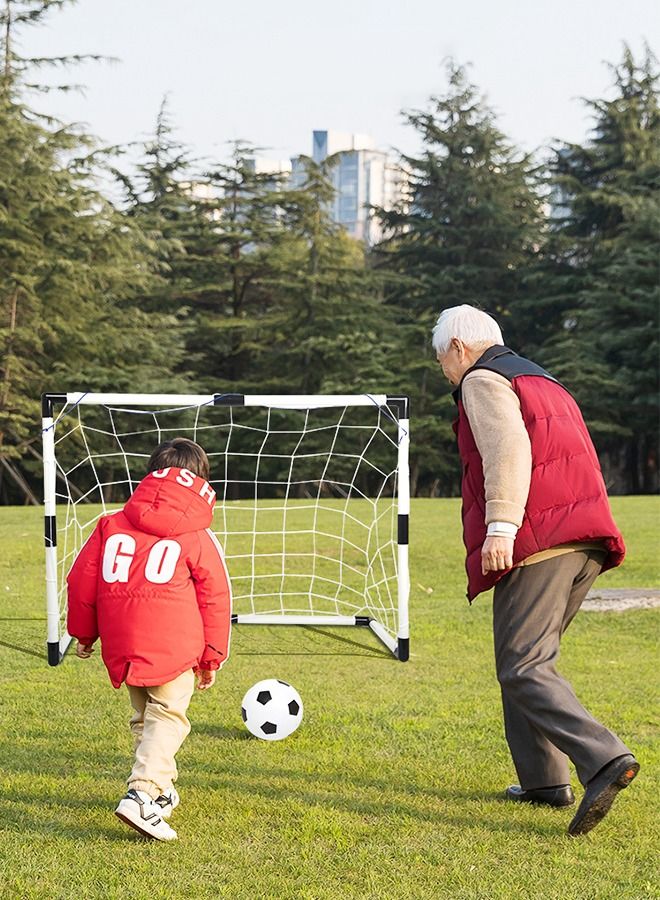
[[[469,303],[495,314],[511,343],[511,310],[540,234],[540,197],[531,160],[519,154],[466,70],[448,64],[448,89],[426,111],[406,114],[423,152],[402,157],[407,196],[381,211],[388,237],[376,250],[393,276],[387,291],[402,338],[407,391],[413,397],[413,488],[458,487],[453,402],[433,358],[430,331],[443,308]]]

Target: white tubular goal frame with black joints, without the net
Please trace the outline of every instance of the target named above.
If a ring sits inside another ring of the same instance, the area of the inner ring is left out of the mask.
[[[55,406],[62,406],[55,417]],[[44,516],[46,547],[46,610],[48,662],[58,665],[71,642],[71,637],[60,625],[58,596],[57,556],[57,501],[56,501],[56,427],[67,412],[80,405],[106,407],[147,407],[163,411],[201,406],[254,406],[270,409],[309,410],[327,407],[376,406],[384,409],[397,423],[397,474],[396,474],[396,612],[397,628],[393,635],[380,622],[362,615],[269,615],[236,614],[233,624],[248,625],[357,625],[367,626],[401,662],[410,654],[408,601],[410,575],[408,562],[410,470],[408,462],[410,444],[409,399],[385,394],[333,394],[333,395],[250,395],[250,394],[124,394],[124,393],[46,393],[42,395],[42,435],[44,465]],[[231,575],[231,573],[230,573]]]

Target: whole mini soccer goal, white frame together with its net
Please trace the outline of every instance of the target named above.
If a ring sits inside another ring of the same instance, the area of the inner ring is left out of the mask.
[[[48,661],[66,575],[162,441],[206,450],[240,625],[366,626],[408,659],[407,397],[44,394]]]

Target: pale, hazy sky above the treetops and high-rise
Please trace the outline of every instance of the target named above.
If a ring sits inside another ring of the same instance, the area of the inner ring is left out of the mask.
[[[414,153],[403,109],[446,87],[445,60],[471,79],[525,150],[589,129],[581,97],[607,94],[623,42],[660,49],[656,0],[79,0],[23,32],[23,55],[99,53],[68,73],[84,93],[38,107],[106,144],[143,140],[164,95],[177,137],[200,158],[228,142],[286,159],[314,129],[372,135]]]

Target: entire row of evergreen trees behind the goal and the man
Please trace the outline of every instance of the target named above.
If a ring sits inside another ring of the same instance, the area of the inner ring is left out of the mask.
[[[134,172],[39,115],[44,67],[17,32],[67,0],[0,12],[0,502],[37,502],[44,390],[409,394],[413,493],[458,491],[454,405],[430,332],[493,313],[584,411],[618,490],[658,489],[657,63],[625,48],[593,130],[543,168],[502,134],[464,68],[406,114],[405,195],[368,249],[332,220],[332,166],[264,174],[255,148],[202,165],[166,104]],[[71,85],[56,85],[70,89]],[[38,96],[38,92],[36,94]],[[299,173],[299,174],[298,174]],[[543,176],[547,177],[543,177]],[[274,465],[274,464],[273,464]]]

